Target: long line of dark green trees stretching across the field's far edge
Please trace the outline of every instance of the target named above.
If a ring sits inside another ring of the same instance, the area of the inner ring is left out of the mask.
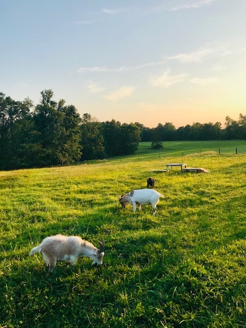
[[[53,100],[51,89],[41,92],[40,103],[16,101],[0,92],[0,169],[70,165],[90,159],[134,154],[139,141],[158,146],[171,140],[246,139],[246,115],[221,124],[194,123],[178,129],[172,123],[148,128],[139,122],[99,122],[82,117],[65,100]]]

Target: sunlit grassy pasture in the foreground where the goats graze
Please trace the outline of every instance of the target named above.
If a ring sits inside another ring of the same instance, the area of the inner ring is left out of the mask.
[[[210,173],[151,172],[168,162]],[[213,151],[0,172],[0,327],[245,327],[245,173],[246,154]],[[149,176],[156,216],[121,209]],[[57,233],[104,237],[104,265],[48,274],[28,254]]]

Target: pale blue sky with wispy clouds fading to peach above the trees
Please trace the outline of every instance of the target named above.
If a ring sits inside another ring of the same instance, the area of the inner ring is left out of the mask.
[[[245,0],[0,0],[0,92],[99,121],[246,114]]]

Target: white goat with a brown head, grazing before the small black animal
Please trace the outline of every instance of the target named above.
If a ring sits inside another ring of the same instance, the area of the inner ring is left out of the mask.
[[[130,193],[120,196],[119,203],[122,208],[125,208],[127,203],[131,204],[133,206],[133,212],[136,212],[137,206],[141,211],[141,205],[151,204],[154,210],[153,215],[155,215],[156,204],[159,202],[159,197],[164,196],[153,189],[132,190]]]

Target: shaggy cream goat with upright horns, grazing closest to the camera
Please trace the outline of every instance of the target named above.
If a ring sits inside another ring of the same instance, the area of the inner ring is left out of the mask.
[[[43,255],[46,261],[49,272],[52,273],[57,261],[69,260],[72,267],[78,257],[88,256],[93,262],[91,265],[103,264],[105,241],[99,241],[100,247],[97,249],[94,245],[78,236],[63,236],[55,235],[46,237],[40,245],[34,247],[29,256],[36,252]]]

